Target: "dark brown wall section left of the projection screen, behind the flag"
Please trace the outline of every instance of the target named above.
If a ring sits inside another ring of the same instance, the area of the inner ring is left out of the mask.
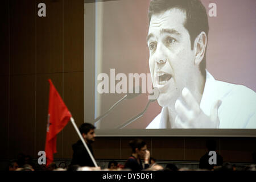
[[[47,16],[38,16],[46,3]],[[77,125],[84,119],[84,1],[1,1],[0,158],[44,150],[51,78]],[[57,137],[55,158],[70,158],[71,124]]]

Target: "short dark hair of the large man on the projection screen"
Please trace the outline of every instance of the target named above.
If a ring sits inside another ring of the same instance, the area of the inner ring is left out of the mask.
[[[191,40],[191,49],[194,47],[196,37],[204,31],[208,37],[209,24],[205,7],[199,0],[152,0],[148,10],[148,20],[150,23],[153,14],[160,14],[164,11],[177,8],[185,12],[186,20],[184,27],[188,30]],[[200,71],[205,76],[206,49],[204,59],[200,64]]]

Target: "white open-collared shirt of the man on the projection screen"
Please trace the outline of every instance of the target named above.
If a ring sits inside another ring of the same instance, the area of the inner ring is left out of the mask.
[[[243,85],[230,84],[215,80],[207,71],[203,97],[200,108],[206,115],[214,102],[221,100],[218,109],[220,129],[256,129],[256,94]],[[163,107],[146,129],[166,129],[168,108]]]

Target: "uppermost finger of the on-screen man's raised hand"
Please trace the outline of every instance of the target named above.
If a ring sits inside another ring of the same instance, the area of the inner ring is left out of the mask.
[[[189,109],[195,111],[195,113],[200,113],[200,105],[197,103],[195,97],[192,96],[192,93],[187,88],[183,88],[181,95]]]

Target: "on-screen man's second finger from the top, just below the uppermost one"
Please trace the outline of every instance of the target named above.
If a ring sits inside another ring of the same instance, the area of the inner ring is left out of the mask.
[[[180,100],[175,102],[174,107],[182,121],[191,121],[193,119],[192,111],[188,110]]]

